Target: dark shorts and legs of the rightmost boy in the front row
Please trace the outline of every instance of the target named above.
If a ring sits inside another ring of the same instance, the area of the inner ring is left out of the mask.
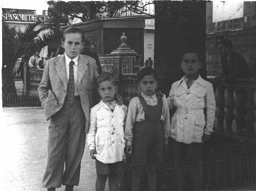
[[[173,151],[175,154],[175,177],[176,189],[183,190],[187,184],[185,179],[187,174],[187,165],[191,165],[190,175],[193,182],[193,190],[201,190],[203,179],[203,168],[201,164],[201,155],[203,152],[203,143],[184,144],[172,139]]]

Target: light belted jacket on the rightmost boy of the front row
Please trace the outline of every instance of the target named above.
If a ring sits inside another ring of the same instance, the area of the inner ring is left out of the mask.
[[[213,85],[200,75],[189,89],[184,77],[173,83],[167,101],[170,108],[177,107],[171,119],[173,139],[186,144],[202,143],[203,134],[213,132],[216,108]]]

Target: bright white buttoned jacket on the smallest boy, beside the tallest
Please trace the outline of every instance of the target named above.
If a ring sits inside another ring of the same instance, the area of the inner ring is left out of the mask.
[[[124,159],[125,105],[116,105],[112,111],[102,100],[91,108],[87,143],[90,150],[96,148],[96,159],[103,163],[115,163]]]

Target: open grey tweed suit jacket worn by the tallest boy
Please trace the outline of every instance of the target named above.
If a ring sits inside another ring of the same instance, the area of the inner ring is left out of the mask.
[[[79,54],[77,87],[81,107],[85,114],[85,133],[88,132],[89,112],[92,104],[92,89],[97,78],[98,68],[95,59]],[[64,54],[54,57],[46,64],[38,92],[46,119],[61,110],[67,96],[68,78]]]

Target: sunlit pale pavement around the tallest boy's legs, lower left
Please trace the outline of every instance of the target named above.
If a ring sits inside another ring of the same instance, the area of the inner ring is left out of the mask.
[[[41,187],[41,181],[47,161],[49,122],[43,109],[5,107],[1,113],[1,124],[0,190],[46,190]],[[95,162],[89,152],[86,145],[80,184],[74,190],[95,190]],[[64,186],[57,190],[64,191]]]

